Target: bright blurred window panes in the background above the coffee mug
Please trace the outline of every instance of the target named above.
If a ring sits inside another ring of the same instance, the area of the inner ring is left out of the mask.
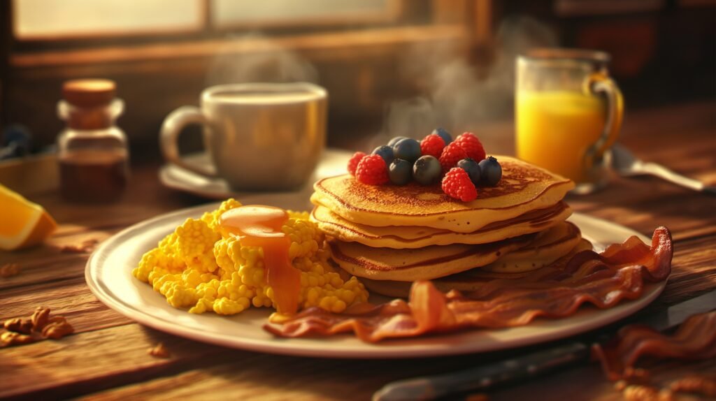
[[[19,41],[396,21],[402,0],[14,0]]]

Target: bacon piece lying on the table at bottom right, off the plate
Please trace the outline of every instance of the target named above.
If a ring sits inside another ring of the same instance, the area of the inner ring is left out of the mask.
[[[609,380],[627,377],[644,355],[692,360],[716,357],[716,311],[689,317],[673,336],[645,325],[629,325],[619,330],[614,340],[595,344],[591,351]]]

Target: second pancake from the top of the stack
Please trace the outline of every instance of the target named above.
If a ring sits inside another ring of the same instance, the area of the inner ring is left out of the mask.
[[[546,209],[537,209],[502,222],[494,222],[475,232],[452,232],[431,227],[371,227],[343,219],[324,206],[314,207],[311,220],[318,227],[343,242],[360,242],[376,248],[422,248],[430,245],[486,244],[505,238],[548,229],[571,214],[571,208],[558,202]]]

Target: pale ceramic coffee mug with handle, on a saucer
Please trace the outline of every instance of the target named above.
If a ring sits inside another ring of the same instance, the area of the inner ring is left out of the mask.
[[[295,189],[306,182],[326,142],[326,90],[309,83],[211,86],[200,108],[171,112],[162,126],[165,159],[233,189]],[[177,139],[188,124],[203,126],[213,166],[180,157]]]

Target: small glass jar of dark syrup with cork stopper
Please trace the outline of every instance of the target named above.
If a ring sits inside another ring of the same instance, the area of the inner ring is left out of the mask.
[[[57,160],[65,199],[112,202],[127,186],[127,136],[115,125],[124,103],[115,91],[115,82],[107,79],[78,79],[62,86],[57,114],[67,127],[57,137]]]

